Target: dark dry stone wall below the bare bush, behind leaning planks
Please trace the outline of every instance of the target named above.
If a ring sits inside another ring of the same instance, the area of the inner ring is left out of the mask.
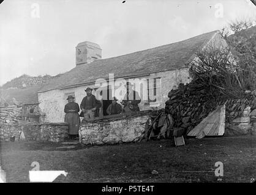
[[[239,98],[228,97],[216,87],[208,87],[198,80],[187,85],[179,85],[177,90],[168,93],[165,113],[173,118],[173,127],[183,128],[186,133],[194,129],[218,105],[226,105],[226,122],[232,122],[243,115],[244,109],[256,108],[255,91],[246,91]],[[255,110],[256,113],[256,110]]]

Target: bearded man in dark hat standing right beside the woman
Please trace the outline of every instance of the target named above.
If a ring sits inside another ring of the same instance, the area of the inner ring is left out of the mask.
[[[92,94],[92,88],[86,88],[86,96],[83,98],[80,108],[84,113],[85,120],[94,118],[97,102],[96,97]]]

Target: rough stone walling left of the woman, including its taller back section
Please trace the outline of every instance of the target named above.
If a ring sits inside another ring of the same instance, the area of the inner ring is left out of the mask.
[[[0,140],[18,141],[23,131],[26,140],[63,141],[68,135],[66,122],[43,123],[38,104],[0,107]]]

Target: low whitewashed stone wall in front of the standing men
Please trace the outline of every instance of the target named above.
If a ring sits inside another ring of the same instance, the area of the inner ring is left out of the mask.
[[[150,111],[143,111],[132,113],[130,116],[113,115],[81,122],[80,143],[115,144],[138,141],[143,137],[149,113]]]

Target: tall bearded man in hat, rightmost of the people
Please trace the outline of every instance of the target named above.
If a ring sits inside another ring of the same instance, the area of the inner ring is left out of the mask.
[[[140,111],[138,104],[140,104],[141,99],[137,91],[132,90],[132,83],[126,83],[126,94],[122,100],[122,105],[124,105],[124,110],[130,110],[132,112]]]

